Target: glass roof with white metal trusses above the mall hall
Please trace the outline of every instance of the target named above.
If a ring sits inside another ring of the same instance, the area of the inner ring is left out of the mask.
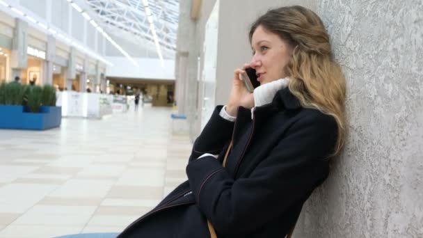
[[[86,3],[97,13],[95,18],[106,32],[137,45],[142,38],[156,51],[143,0],[86,0]],[[163,56],[175,54],[179,0],[150,0],[148,5]]]

